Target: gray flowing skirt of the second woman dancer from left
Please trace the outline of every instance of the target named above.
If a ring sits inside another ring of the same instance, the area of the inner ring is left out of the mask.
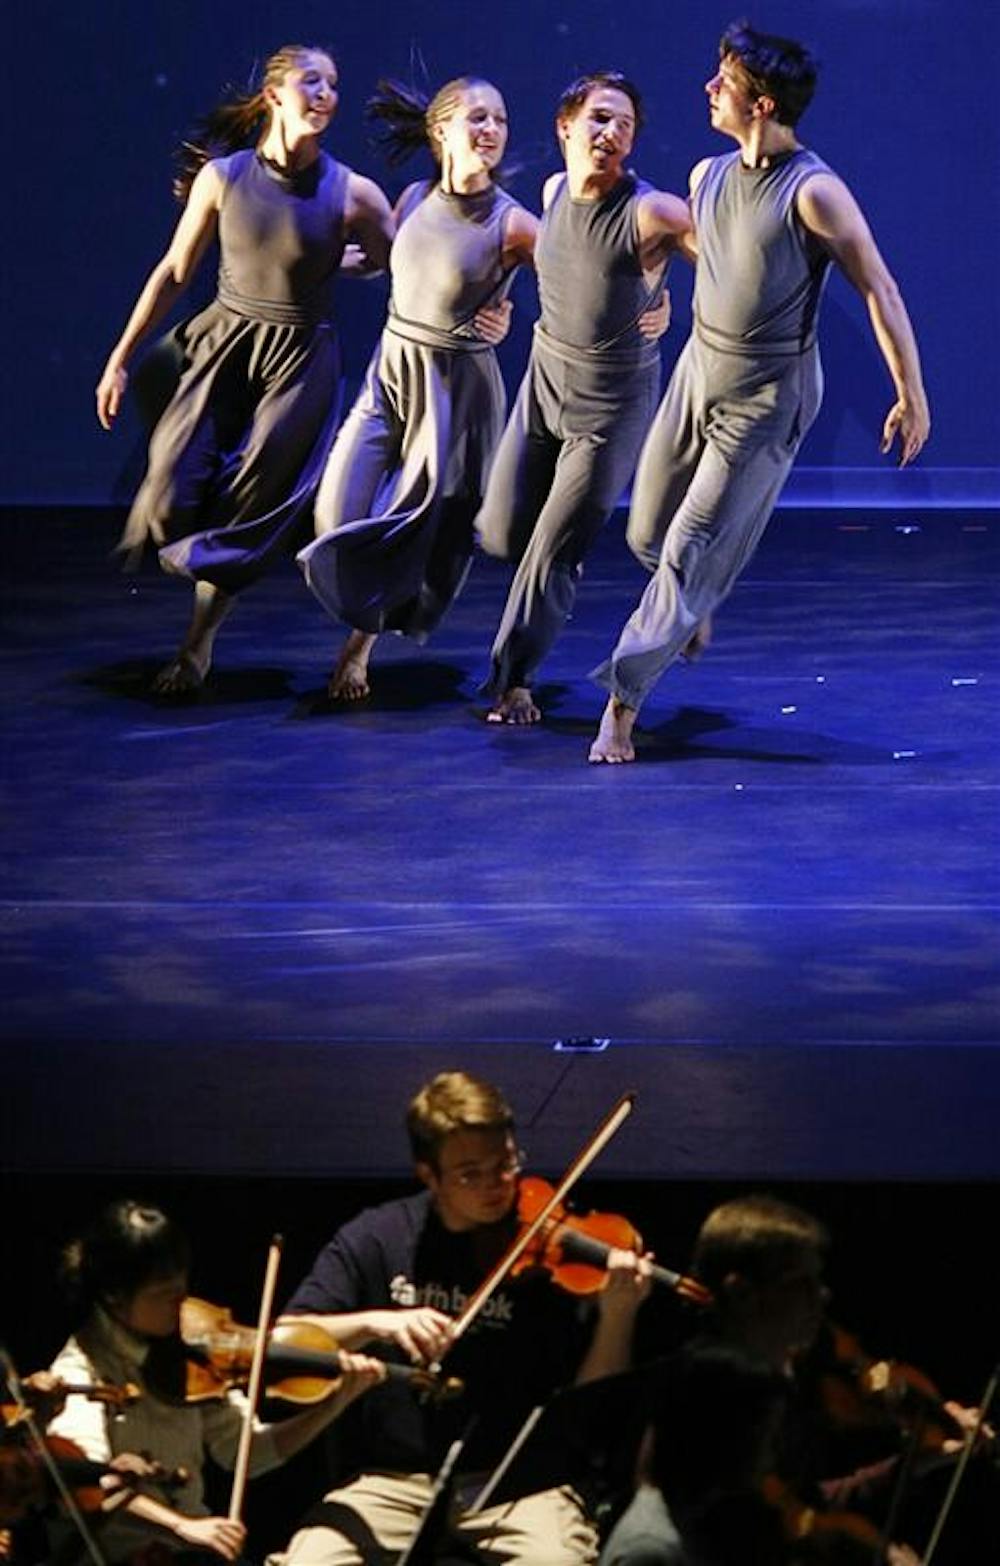
[[[297,557],[329,614],[427,639],[468,575],[504,413],[493,349],[385,329],[319,485],[318,537]]]

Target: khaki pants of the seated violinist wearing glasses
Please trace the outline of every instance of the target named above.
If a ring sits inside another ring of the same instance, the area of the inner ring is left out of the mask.
[[[462,1499],[462,1491],[459,1491]],[[394,1566],[432,1497],[427,1474],[362,1474],[330,1491],[271,1566]],[[471,1497],[469,1497],[471,1499]],[[452,1532],[484,1563],[588,1566],[598,1536],[570,1486],[469,1514],[452,1513]]]

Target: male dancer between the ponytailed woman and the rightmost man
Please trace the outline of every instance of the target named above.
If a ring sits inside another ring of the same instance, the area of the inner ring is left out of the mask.
[[[541,716],[532,675],[573,608],[581,562],[632,473],[659,393],[659,351],[640,318],[689,215],[626,172],[638,122],[638,94],[613,72],[574,81],[559,105],[567,174],[545,191],[541,318],[477,518],[484,550],[516,565],[487,683],[493,722]]]

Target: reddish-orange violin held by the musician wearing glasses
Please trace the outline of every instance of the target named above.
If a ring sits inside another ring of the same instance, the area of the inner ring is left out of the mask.
[[[554,1195],[548,1181],[526,1176],[518,1187],[518,1221],[531,1226]],[[531,1267],[545,1268],[552,1283],[568,1294],[596,1294],[607,1286],[607,1256],[612,1250],[643,1254],[642,1234],[628,1218],[615,1212],[571,1214],[556,1203],[537,1236],[515,1261],[510,1275],[516,1278]],[[651,1264],[654,1283],[673,1289],[695,1304],[710,1304],[712,1294],[695,1278]]]

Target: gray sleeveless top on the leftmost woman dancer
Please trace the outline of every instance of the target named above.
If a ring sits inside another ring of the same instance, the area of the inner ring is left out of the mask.
[[[347,169],[326,152],[285,177],[254,149],[219,158],[221,304],[286,326],[329,319],[330,280],[344,249]]]

